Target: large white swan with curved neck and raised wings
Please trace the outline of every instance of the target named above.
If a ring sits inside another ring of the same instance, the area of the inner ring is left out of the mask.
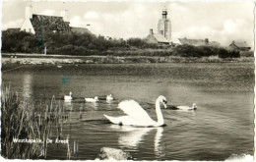
[[[111,123],[116,125],[160,127],[164,125],[163,116],[160,111],[160,103],[164,106],[164,108],[166,108],[167,101],[162,95],[160,95],[156,100],[158,122],[152,120],[148,113],[134,100],[126,100],[118,104],[118,108],[124,111],[127,116],[110,117],[105,114],[103,114],[103,116]]]

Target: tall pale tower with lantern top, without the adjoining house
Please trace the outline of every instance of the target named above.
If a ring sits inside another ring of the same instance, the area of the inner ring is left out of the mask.
[[[170,20],[167,19],[167,10],[163,9],[161,19],[159,20],[158,33],[164,36],[167,40],[171,40],[171,25]]]

